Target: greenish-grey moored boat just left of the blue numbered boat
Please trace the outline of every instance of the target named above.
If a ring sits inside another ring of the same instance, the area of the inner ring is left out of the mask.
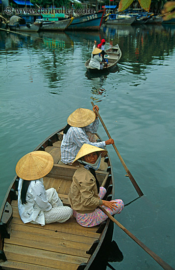
[[[40,30],[42,31],[64,31],[66,30],[72,23],[74,18],[68,20],[61,21],[44,21]]]

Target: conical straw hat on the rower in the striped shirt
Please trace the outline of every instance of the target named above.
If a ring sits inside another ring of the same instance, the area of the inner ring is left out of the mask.
[[[96,119],[96,114],[93,110],[78,108],[68,117],[68,124],[72,127],[86,127]]]

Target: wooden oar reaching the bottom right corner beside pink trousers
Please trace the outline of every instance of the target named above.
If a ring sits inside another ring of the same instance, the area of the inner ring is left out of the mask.
[[[117,219],[111,216],[103,207],[99,206],[100,210],[106,214],[115,224],[117,224],[130,238],[132,238],[137,244],[139,244],[163,269],[174,270],[170,265],[164,262],[157,254],[155,254],[150,248],[142,243],[138,238],[131,234]]]

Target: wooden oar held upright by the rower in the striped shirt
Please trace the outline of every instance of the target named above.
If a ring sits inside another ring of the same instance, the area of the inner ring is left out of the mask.
[[[91,104],[92,104],[93,107],[95,107],[95,105],[94,105],[93,102],[91,102]],[[95,111],[96,111],[96,113],[97,113],[97,115],[98,115],[98,117],[99,117],[99,119],[100,119],[100,121],[101,121],[101,124],[103,125],[103,128],[105,129],[105,132],[107,133],[108,137],[111,139],[111,136],[110,136],[108,130],[106,129],[106,126],[104,125],[104,122],[103,122],[103,120],[101,119],[101,116],[100,116],[99,112],[96,110],[96,108],[95,108]],[[128,170],[128,168],[126,167],[126,164],[125,164],[123,158],[121,157],[119,151],[117,150],[117,147],[115,146],[115,144],[112,144],[112,146],[114,147],[114,149],[115,149],[115,151],[116,151],[116,153],[117,153],[117,155],[118,155],[120,161],[122,162],[122,164],[123,164],[123,166],[124,166],[124,168],[125,168],[125,171],[127,172],[127,175],[129,176],[129,179],[130,179],[130,181],[132,182],[132,185],[133,185],[134,188],[136,189],[136,191],[137,191],[137,193],[139,194],[139,196],[140,196],[140,197],[143,196],[144,193],[143,193],[142,190],[139,188],[139,186],[137,185],[137,183],[136,183],[134,177],[132,176],[132,174],[130,173],[130,171]]]

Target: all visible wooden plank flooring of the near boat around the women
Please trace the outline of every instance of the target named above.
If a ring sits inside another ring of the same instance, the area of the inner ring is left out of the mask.
[[[68,193],[72,176],[77,167],[57,164],[60,160],[61,141],[46,147],[54,160],[51,172],[44,177],[46,189],[57,190],[64,205],[69,205]],[[98,173],[100,183],[105,179],[107,163],[102,162]],[[71,167],[71,168],[70,168]],[[45,226],[26,223],[19,216],[18,202],[11,203],[13,217],[10,222],[10,239],[4,239],[4,253],[7,261],[0,262],[6,270],[76,270],[81,263],[87,263],[87,254],[93,243],[100,239],[99,226],[85,228],[72,216],[64,223]]]

